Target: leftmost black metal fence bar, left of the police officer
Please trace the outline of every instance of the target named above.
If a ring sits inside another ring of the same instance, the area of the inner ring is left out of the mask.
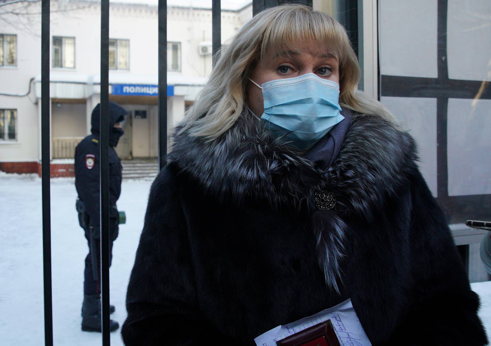
[[[41,2],[41,192],[43,201],[44,345],[53,346],[50,191],[50,0]]]

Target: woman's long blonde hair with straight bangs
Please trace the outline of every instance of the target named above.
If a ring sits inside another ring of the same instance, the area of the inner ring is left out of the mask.
[[[230,39],[208,82],[181,121],[179,133],[189,131],[192,136],[214,140],[227,132],[243,111],[247,77],[254,64],[268,51],[295,49],[296,42],[306,40],[316,42],[338,58],[342,107],[395,124],[379,101],[358,90],[360,67],[343,25],[311,7],[284,4],[256,14]]]

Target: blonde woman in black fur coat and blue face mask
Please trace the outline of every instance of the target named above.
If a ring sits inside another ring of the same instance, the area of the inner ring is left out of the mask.
[[[235,35],[152,185],[126,345],[255,345],[348,298],[374,346],[487,344],[414,140],[359,77],[311,8]]]

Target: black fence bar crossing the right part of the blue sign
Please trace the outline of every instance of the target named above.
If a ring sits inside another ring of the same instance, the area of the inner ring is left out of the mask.
[[[167,156],[167,0],[159,0],[159,171]]]

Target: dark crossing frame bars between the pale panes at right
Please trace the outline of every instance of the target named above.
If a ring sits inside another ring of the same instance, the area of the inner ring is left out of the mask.
[[[379,6],[377,6],[379,10]],[[447,57],[448,0],[437,2],[437,77],[406,77],[380,74],[379,99],[384,97],[436,99],[436,201],[449,224],[465,223],[467,219],[489,218],[491,194],[448,195],[447,108],[449,99],[474,99],[482,81],[450,79]],[[380,25],[380,24],[379,24]],[[379,26],[380,31],[380,26]],[[380,63],[380,53],[379,53]],[[485,88],[480,99],[491,99],[491,89]]]

